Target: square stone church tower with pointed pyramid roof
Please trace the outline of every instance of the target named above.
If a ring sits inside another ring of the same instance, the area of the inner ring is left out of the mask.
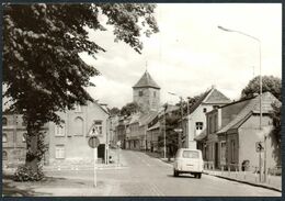
[[[133,87],[133,101],[141,107],[144,112],[158,110],[160,105],[160,87],[146,70]]]

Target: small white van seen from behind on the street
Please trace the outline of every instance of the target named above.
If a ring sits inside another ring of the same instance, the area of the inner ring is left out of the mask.
[[[175,155],[173,175],[174,177],[178,177],[179,174],[191,174],[200,179],[203,172],[203,163],[201,150],[180,148]]]

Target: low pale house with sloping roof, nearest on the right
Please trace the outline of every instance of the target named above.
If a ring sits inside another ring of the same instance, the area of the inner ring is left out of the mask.
[[[241,169],[246,161],[249,168],[259,167],[256,143],[261,142],[266,152],[266,168],[280,165],[280,145],[272,133],[270,116],[272,103],[280,101],[270,92],[262,94],[262,122],[260,130],[260,97],[233,102],[207,113],[206,158],[213,168]],[[264,138],[266,136],[266,139]]]

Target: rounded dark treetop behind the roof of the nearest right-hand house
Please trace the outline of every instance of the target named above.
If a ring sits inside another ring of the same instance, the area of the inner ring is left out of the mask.
[[[270,91],[281,101],[281,79],[274,76],[262,76],[262,92]],[[249,81],[241,92],[241,99],[252,98],[260,92],[260,76]]]

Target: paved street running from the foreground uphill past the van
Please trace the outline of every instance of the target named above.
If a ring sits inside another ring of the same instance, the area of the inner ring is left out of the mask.
[[[229,181],[209,175],[195,179],[173,177],[172,166],[140,152],[122,150],[126,168],[98,170],[98,180],[107,187],[104,196],[117,197],[281,197],[281,192]],[[64,172],[58,172],[65,177]],[[92,170],[67,172],[92,188]],[[56,172],[53,172],[55,176]],[[91,192],[90,192],[91,193]],[[87,194],[86,194],[87,196]]]

